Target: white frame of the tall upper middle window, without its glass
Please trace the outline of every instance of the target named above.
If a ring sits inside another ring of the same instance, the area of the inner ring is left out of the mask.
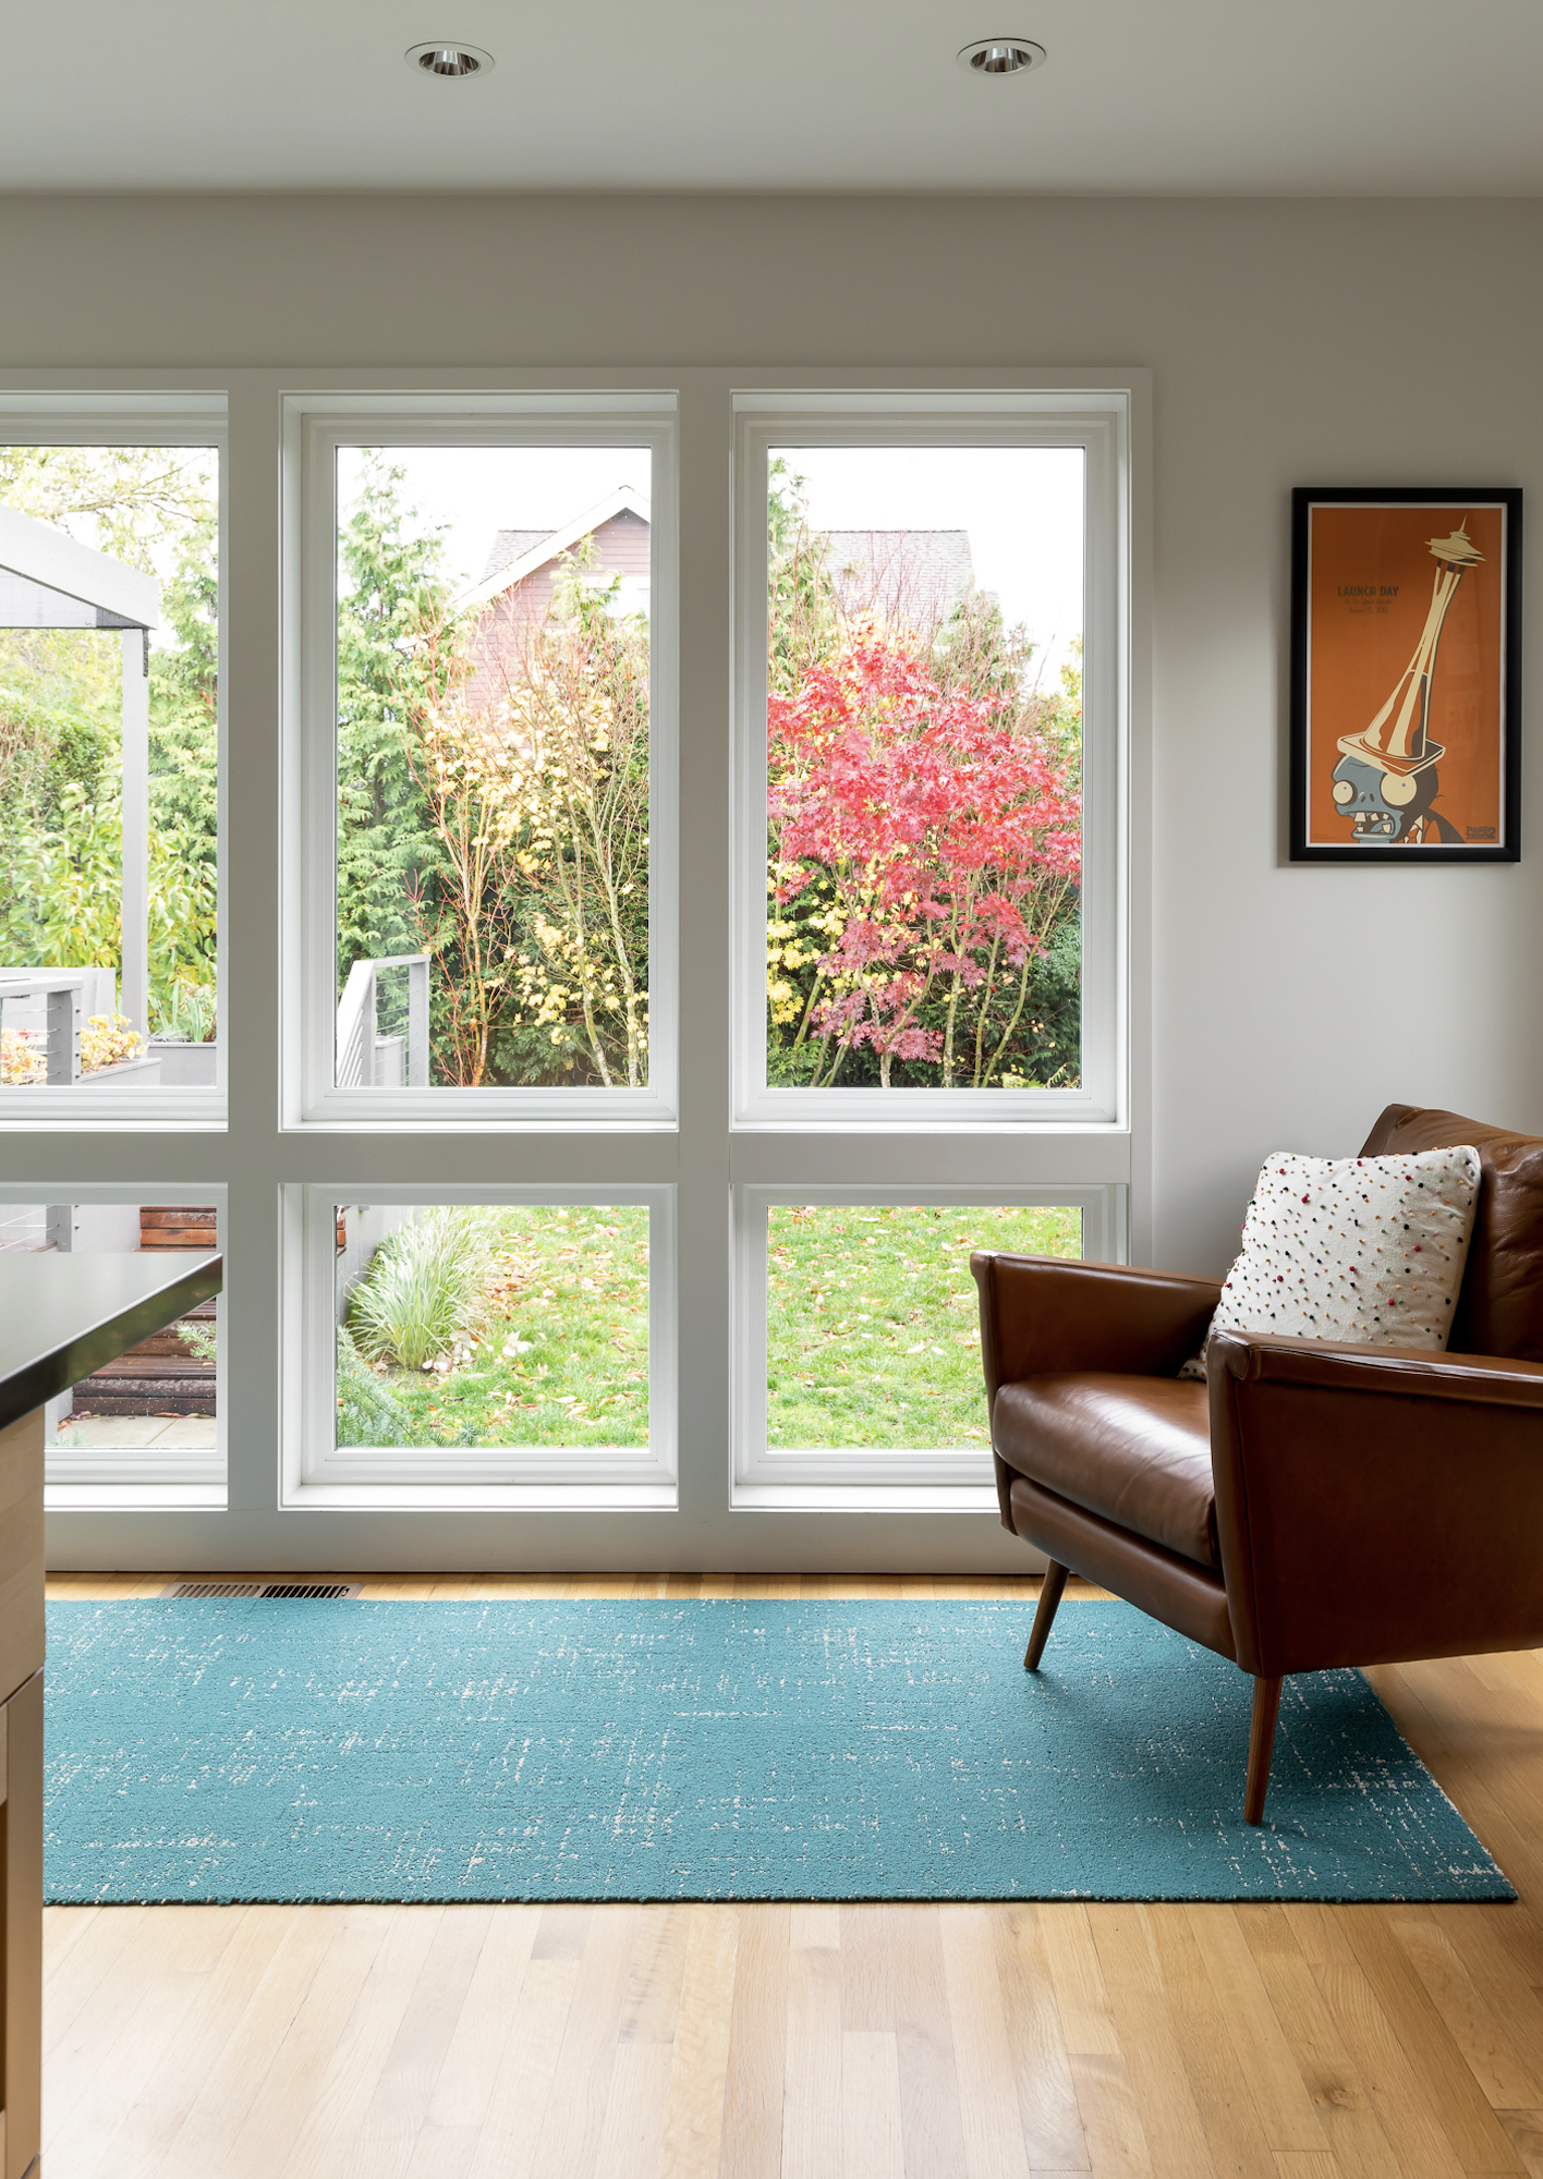
[[[649,1081],[645,1090],[338,1090],[336,453],[368,447],[647,447]],[[292,394],[285,484],[283,1124],[349,1133],[669,1129],[678,1118],[678,427],[676,394]]]

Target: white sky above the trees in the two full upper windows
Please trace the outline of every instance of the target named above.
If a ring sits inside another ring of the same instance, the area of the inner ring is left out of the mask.
[[[780,447],[804,477],[817,529],[968,529],[974,580],[1022,621],[1046,680],[1083,625],[1079,447]],[[556,529],[630,484],[649,492],[647,447],[392,447],[408,503],[445,529],[445,573],[475,582],[499,529]],[[353,503],[362,449],[338,449]]]

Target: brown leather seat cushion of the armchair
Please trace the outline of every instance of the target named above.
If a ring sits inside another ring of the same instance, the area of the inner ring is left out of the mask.
[[[1114,1371],[1020,1377],[996,1395],[992,1442],[1046,1490],[1220,1571],[1203,1384]]]

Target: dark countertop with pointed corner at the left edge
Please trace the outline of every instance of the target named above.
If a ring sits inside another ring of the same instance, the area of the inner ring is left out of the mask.
[[[0,1253],[0,1429],[220,1292],[224,1259]]]

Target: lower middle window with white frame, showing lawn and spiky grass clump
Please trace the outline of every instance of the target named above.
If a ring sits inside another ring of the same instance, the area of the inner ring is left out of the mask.
[[[673,1497],[667,1188],[296,1190],[312,1490],[606,1486]],[[327,1318],[316,1297],[327,1294]]]

